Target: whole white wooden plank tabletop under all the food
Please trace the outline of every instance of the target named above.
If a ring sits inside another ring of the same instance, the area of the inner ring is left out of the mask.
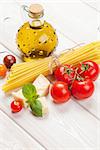
[[[15,38],[24,21],[21,6],[39,2],[45,18],[59,37],[57,51],[100,39],[100,3],[95,0],[0,0],[0,63],[6,54],[20,60]],[[49,115],[39,119],[27,111],[12,114],[11,97],[1,90],[0,150],[99,150],[100,80],[90,100],[54,105],[48,98]]]

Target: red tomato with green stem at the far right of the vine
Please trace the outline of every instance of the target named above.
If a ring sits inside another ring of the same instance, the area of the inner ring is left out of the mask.
[[[84,61],[79,64],[77,72],[85,78],[95,81],[99,75],[99,66],[93,61]]]

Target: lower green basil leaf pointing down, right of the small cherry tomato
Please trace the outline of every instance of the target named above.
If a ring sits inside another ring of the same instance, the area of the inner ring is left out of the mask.
[[[39,100],[34,100],[30,104],[30,108],[35,116],[42,117],[42,104]]]

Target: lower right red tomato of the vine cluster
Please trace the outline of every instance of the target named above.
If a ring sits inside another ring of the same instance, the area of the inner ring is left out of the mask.
[[[84,81],[75,80],[72,84],[71,92],[78,100],[88,98],[94,92],[93,81],[90,79],[84,79]]]

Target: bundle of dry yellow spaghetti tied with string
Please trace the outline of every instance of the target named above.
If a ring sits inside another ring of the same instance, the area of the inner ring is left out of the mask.
[[[3,90],[8,92],[21,87],[26,83],[32,82],[39,74],[47,76],[49,74],[49,63],[52,62],[52,56],[31,62],[14,64]],[[93,42],[88,45],[69,50],[61,54],[58,61],[61,64],[77,65],[86,60],[93,60],[100,64],[100,42]],[[52,65],[53,69],[56,67]]]

